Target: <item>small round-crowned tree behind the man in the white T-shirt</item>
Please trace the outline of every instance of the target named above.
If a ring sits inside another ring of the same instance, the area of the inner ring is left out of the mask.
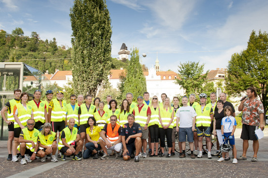
[[[206,83],[208,71],[203,74],[204,64],[199,62],[180,63],[178,66],[178,78],[175,83],[186,90],[186,95],[191,93],[200,94],[203,92],[203,85]]]

